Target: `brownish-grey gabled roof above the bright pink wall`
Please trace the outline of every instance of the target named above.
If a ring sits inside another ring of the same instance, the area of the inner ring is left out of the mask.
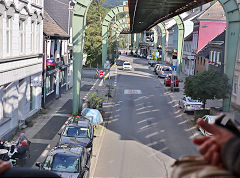
[[[198,17],[198,20],[226,21],[225,12],[220,2],[215,2]]]

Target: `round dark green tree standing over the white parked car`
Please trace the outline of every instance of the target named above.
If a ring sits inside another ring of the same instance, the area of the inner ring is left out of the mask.
[[[205,104],[207,99],[224,99],[231,92],[226,74],[215,70],[189,76],[184,83],[184,94]]]

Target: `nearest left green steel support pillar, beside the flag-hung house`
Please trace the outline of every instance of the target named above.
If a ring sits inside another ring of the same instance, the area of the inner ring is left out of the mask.
[[[73,115],[81,111],[81,71],[86,26],[86,16],[92,0],[77,0],[72,19],[73,41]]]

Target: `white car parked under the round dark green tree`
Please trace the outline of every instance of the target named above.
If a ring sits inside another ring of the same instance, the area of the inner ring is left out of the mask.
[[[200,110],[203,103],[198,100],[193,100],[191,97],[184,96],[179,100],[179,107],[183,108],[184,112]]]

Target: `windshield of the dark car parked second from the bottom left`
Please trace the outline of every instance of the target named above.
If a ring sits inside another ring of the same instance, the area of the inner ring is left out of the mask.
[[[63,132],[63,136],[66,137],[81,137],[86,138],[90,137],[89,129],[85,127],[77,127],[77,126],[68,126]]]

